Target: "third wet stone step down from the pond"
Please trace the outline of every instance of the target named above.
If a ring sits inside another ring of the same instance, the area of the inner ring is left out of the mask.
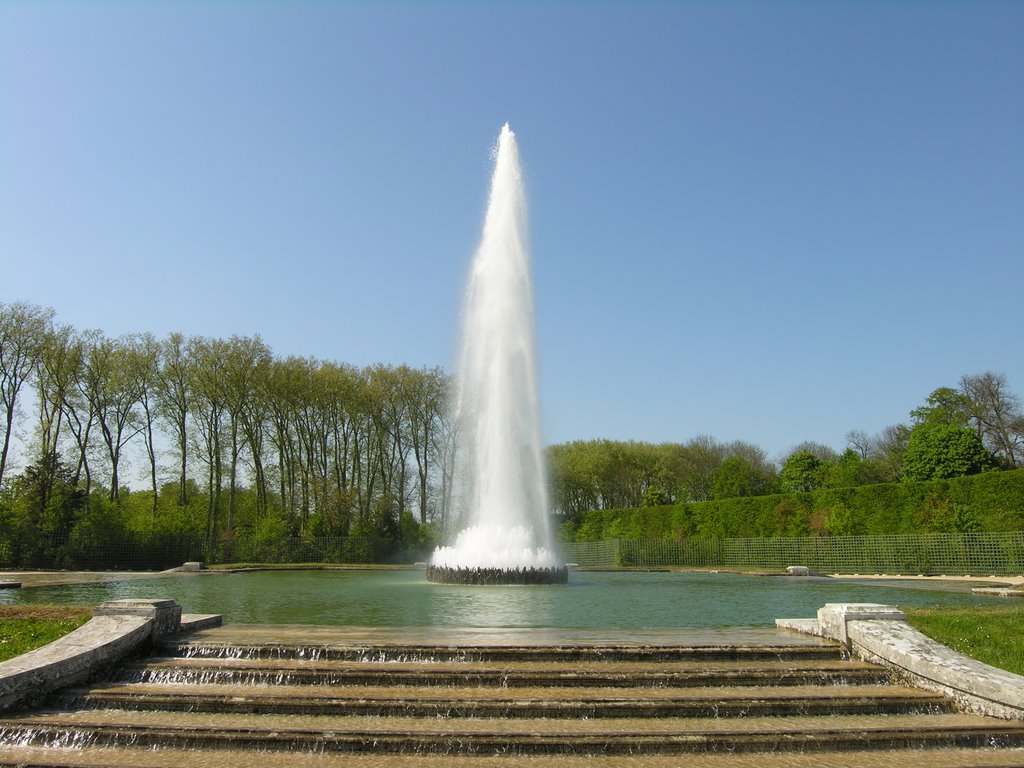
[[[67,689],[51,700],[61,708],[451,718],[895,715],[950,710],[948,699],[937,693],[884,685],[381,688],[128,683]]]

